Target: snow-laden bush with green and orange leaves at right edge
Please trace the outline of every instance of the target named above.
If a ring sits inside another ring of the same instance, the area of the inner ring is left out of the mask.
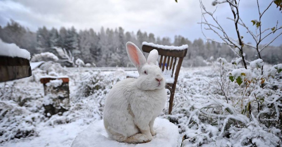
[[[243,83],[239,87],[243,93],[238,94],[244,98],[242,114],[251,117],[252,113],[267,127],[282,129],[282,85],[279,84],[282,64],[264,66],[262,72],[263,65],[263,61],[258,59],[250,63],[251,69],[233,69],[229,79],[239,86]]]

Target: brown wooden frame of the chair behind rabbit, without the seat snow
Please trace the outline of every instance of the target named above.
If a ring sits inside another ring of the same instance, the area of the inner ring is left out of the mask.
[[[175,93],[175,87],[177,83],[178,74],[180,71],[180,67],[183,61],[183,58],[186,56],[188,48],[185,49],[174,49],[173,46],[165,46],[167,49],[154,47],[151,45],[143,44],[142,50],[143,52],[149,53],[151,50],[156,49],[160,55],[159,67],[162,71],[172,70],[171,77],[174,77],[173,83],[166,83],[166,88],[170,90],[170,105],[169,105],[169,114],[172,111],[173,98]],[[188,46],[187,46],[188,47]],[[167,66],[166,66],[167,65]],[[176,65],[176,68],[175,68]]]

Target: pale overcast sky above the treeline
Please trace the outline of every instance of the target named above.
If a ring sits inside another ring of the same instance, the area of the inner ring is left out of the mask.
[[[203,0],[205,6],[213,11],[213,0]],[[271,0],[259,0],[261,11]],[[241,0],[240,15],[243,21],[252,26],[251,20],[259,19],[256,0]],[[234,24],[227,17],[232,13],[227,4],[217,8],[217,18],[228,32],[235,35]],[[193,41],[204,38],[201,33],[201,9],[198,0],[0,0],[0,25],[3,27],[13,19],[21,25],[36,31],[38,27],[64,26],[76,29],[93,28],[96,32],[104,28],[123,27],[125,31],[136,33],[138,29],[155,36],[170,37],[182,35]],[[273,4],[262,18],[262,28],[272,28],[279,21],[282,25],[282,13]],[[245,42],[251,42],[251,37],[242,30]],[[207,37],[215,38],[215,34],[205,31]],[[279,32],[277,32],[278,34]],[[235,38],[235,36],[234,36]],[[266,40],[267,43],[271,40]],[[272,45],[282,44],[282,35]]]

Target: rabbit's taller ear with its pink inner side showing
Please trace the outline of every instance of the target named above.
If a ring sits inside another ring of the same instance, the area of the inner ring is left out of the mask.
[[[133,65],[137,68],[138,73],[140,74],[141,68],[146,62],[146,58],[144,57],[143,53],[140,49],[132,42],[126,43],[126,51],[130,61]]]

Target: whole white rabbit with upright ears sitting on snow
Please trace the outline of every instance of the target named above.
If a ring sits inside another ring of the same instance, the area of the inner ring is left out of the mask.
[[[109,136],[119,142],[146,143],[156,134],[154,120],[165,106],[165,79],[156,66],[156,49],[149,53],[147,62],[132,42],[126,43],[126,50],[140,76],[112,87],[105,102],[104,125]]]

